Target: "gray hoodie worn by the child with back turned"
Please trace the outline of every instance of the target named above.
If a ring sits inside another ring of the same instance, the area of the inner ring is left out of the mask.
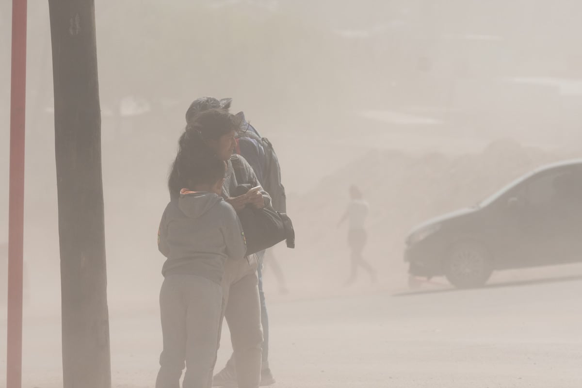
[[[235,209],[219,195],[186,192],[166,207],[158,249],[168,259],[162,275],[190,274],[220,283],[227,259],[242,259],[246,241]]]

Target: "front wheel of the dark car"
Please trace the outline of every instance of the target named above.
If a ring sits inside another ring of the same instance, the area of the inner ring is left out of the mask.
[[[481,287],[493,272],[491,257],[481,244],[455,245],[445,259],[445,275],[453,286],[460,289]]]

